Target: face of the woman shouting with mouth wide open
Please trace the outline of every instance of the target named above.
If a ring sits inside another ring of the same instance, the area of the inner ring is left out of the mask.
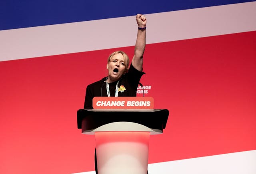
[[[121,53],[115,54],[108,62],[107,69],[108,83],[119,80],[126,70],[124,56]]]

